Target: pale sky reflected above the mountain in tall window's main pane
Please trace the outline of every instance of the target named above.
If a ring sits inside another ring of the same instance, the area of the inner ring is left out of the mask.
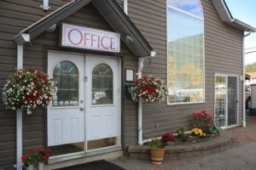
[[[203,33],[203,21],[168,8],[168,42]]]

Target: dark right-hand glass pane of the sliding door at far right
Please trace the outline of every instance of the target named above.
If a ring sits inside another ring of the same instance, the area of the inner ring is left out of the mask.
[[[228,126],[237,124],[237,77],[228,77]]]

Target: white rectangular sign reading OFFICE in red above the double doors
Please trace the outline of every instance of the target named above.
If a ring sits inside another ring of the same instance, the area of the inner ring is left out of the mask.
[[[119,53],[120,35],[83,26],[62,24],[61,46]]]

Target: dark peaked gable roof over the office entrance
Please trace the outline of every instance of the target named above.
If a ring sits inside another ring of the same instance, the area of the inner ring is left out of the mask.
[[[20,31],[20,33],[15,36],[15,42],[25,42],[22,34],[28,34],[30,40],[38,37],[38,35],[48,30],[51,26],[64,20],[69,15],[74,14],[88,3],[92,3],[105,20],[108,21],[108,24],[113,27],[113,30],[120,33],[121,39],[131,49],[133,54],[137,57],[150,56],[152,54],[153,48],[151,48],[147,40],[140,31],[138,31],[137,27],[131,22],[115,0],[74,0],[45,16],[43,19],[38,20],[38,22],[34,23],[32,26]]]

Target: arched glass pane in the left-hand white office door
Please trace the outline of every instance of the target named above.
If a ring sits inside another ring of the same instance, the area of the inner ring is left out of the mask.
[[[79,105],[79,71],[70,61],[61,61],[55,65],[53,80],[56,82],[57,95],[52,101],[53,107]]]

